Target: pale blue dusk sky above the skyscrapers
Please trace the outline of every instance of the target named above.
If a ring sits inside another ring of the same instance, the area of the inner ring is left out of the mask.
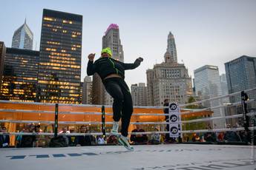
[[[104,5],[100,1],[90,4],[66,2],[59,6],[60,1],[31,1],[31,10],[26,10],[22,2],[4,1],[5,8],[0,12],[4,25],[0,28],[1,41],[6,47],[11,47],[14,31],[27,18],[27,24],[34,33],[33,47],[39,50],[44,8],[82,15],[82,81],[86,76],[88,53],[96,52],[96,58],[99,58],[105,28],[112,23],[118,24],[125,62],[134,62],[139,56],[145,58],[140,68],[125,73],[128,86],[145,83],[146,69],[163,62],[166,36],[170,31],[176,40],[178,62],[184,61],[192,77],[194,69],[206,64],[218,66],[222,74],[225,73],[224,63],[241,55],[256,56],[256,24],[252,22],[256,20],[255,1],[140,1],[136,2],[136,7],[135,1],[109,1]],[[124,12],[127,7],[131,13]],[[8,9],[15,13],[7,18],[4,13],[10,13]],[[104,9],[108,9],[111,17],[107,15],[104,18],[99,12],[95,13],[95,10]]]

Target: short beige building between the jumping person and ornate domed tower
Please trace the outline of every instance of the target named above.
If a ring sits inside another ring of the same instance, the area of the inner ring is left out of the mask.
[[[148,106],[148,88],[145,83],[131,85],[131,98],[134,106]]]

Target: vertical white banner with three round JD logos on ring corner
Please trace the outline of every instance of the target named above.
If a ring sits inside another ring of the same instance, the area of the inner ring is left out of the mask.
[[[169,103],[169,135],[170,137],[179,137],[179,119],[180,119],[180,107],[177,103]]]

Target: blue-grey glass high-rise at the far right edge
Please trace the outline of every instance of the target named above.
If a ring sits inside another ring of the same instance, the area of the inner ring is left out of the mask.
[[[256,87],[256,58],[246,55],[225,63],[229,94]],[[255,99],[256,93],[250,92],[249,98]],[[239,102],[240,95],[230,98],[232,103]]]

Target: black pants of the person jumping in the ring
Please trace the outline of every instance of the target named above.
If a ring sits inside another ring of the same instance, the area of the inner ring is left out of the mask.
[[[121,134],[128,135],[128,127],[133,112],[131,93],[123,78],[108,78],[103,81],[105,89],[114,98],[113,119],[119,121],[122,118]]]

